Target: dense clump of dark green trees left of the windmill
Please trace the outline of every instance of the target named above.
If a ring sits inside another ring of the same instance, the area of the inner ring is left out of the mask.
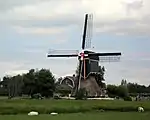
[[[7,90],[9,98],[23,94],[33,97],[37,93],[43,97],[52,97],[55,91],[55,78],[47,69],[31,69],[27,74],[5,76],[1,85],[5,91]]]

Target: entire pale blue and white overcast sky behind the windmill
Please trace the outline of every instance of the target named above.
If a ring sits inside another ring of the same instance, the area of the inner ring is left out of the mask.
[[[46,54],[80,50],[85,13],[93,13],[94,50],[122,52],[120,62],[102,64],[106,82],[150,84],[150,0],[0,0],[0,76],[31,68],[74,73],[76,58]]]

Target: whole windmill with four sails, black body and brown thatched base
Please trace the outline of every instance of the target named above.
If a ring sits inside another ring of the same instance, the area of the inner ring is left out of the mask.
[[[99,84],[101,72],[99,71],[99,61],[101,62],[116,62],[120,60],[121,53],[97,53],[88,48],[91,47],[92,36],[92,14],[85,14],[85,23],[83,30],[83,38],[81,52],[78,50],[50,50],[47,57],[77,57],[79,60],[79,70],[74,82],[73,92],[75,94],[80,88],[87,90],[88,96],[100,96],[102,87]],[[70,79],[70,78],[69,78]],[[63,83],[63,82],[61,82]]]

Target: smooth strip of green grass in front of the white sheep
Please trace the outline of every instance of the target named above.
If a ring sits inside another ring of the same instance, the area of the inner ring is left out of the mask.
[[[52,115],[0,115],[0,120],[149,120],[150,113],[103,112]]]

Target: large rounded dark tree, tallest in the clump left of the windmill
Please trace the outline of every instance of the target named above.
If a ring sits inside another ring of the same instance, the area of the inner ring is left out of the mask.
[[[33,96],[40,93],[44,97],[52,97],[55,91],[55,78],[47,69],[33,70],[25,74],[24,93]]]

